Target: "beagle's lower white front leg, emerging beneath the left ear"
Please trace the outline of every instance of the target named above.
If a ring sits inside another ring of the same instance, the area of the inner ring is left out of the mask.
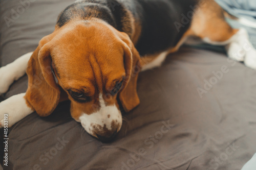
[[[24,98],[26,93],[13,95],[0,103],[0,128],[8,122],[8,128],[34,112]],[[5,122],[5,117],[7,122]]]

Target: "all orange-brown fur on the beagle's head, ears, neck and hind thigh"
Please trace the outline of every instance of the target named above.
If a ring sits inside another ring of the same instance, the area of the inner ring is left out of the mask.
[[[170,53],[176,52],[187,36],[225,41],[237,32],[225,21],[223,10],[217,3],[213,0],[203,2],[195,11],[190,28],[178,44],[169,49]],[[60,101],[69,99],[72,117],[78,120],[81,113],[92,114],[99,109],[100,93],[106,105],[118,106],[119,98],[126,112],[139,104],[136,91],[138,72],[141,65],[158,56],[154,54],[140,59],[134,46],[141,34],[140,23],[126,11],[122,20],[126,34],[100,19],[90,16],[89,20],[74,18],[61,28],[56,26],[33,53],[27,69],[29,87],[25,98],[40,116],[51,114]],[[53,66],[59,85],[47,69],[50,66]],[[39,84],[37,77],[41,80]],[[115,83],[123,78],[123,89],[118,95],[110,95]],[[91,101],[74,101],[69,89],[86,93]]]

